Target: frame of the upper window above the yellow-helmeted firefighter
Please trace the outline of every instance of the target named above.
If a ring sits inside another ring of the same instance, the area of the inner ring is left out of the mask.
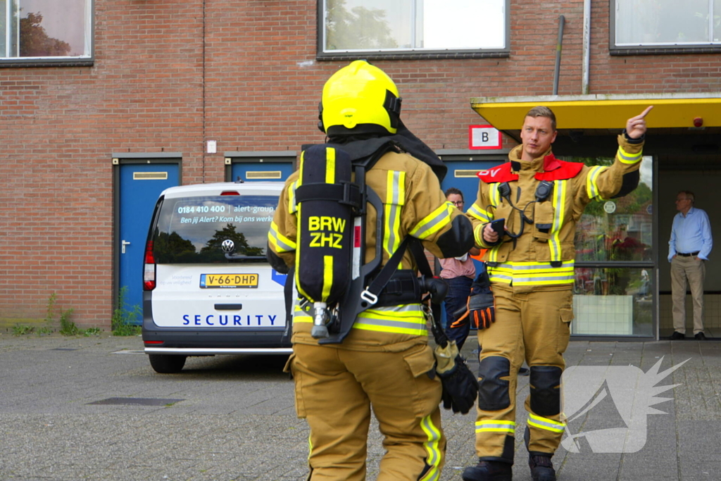
[[[474,57],[508,57],[510,54],[510,0],[503,0],[503,16],[505,18],[503,47],[500,48],[463,48],[463,49],[431,49],[431,48],[389,48],[389,49],[348,49],[325,50],[326,36],[326,3],[318,0],[318,45],[317,58],[323,59],[355,59],[362,58],[474,58]],[[422,0],[417,0],[422,1]],[[476,0],[481,1],[481,0]]]

